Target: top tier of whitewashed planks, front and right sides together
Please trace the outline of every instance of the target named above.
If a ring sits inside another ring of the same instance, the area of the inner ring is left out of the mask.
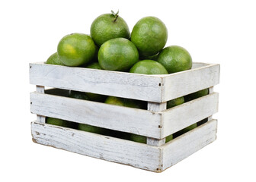
[[[148,102],[167,102],[218,84],[219,64],[193,63],[193,69],[188,71],[146,75],[31,63],[30,83]]]

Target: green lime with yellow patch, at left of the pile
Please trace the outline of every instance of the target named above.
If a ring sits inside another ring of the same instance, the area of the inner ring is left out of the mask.
[[[96,47],[91,36],[72,33],[59,41],[57,52],[63,64],[75,67],[92,61]]]

